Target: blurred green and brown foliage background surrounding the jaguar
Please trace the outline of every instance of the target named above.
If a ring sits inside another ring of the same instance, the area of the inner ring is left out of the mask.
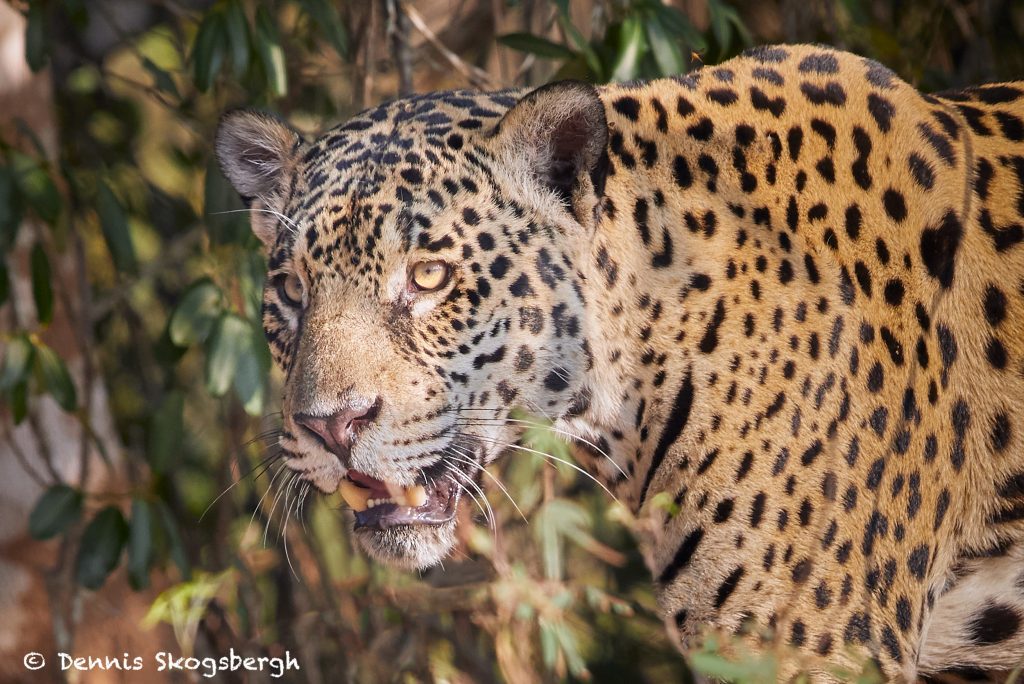
[[[239,105],[312,134],[406,93],[656,78],[771,42],[926,90],[1009,80],[1024,3],[0,0],[0,682],[199,681],[54,664],[230,648],[290,651],[284,681],[310,684],[770,681],[678,657],[635,521],[538,454],[571,462],[545,429],[484,478],[443,568],[355,552],[339,502],[275,459],[264,259],[211,140]]]

